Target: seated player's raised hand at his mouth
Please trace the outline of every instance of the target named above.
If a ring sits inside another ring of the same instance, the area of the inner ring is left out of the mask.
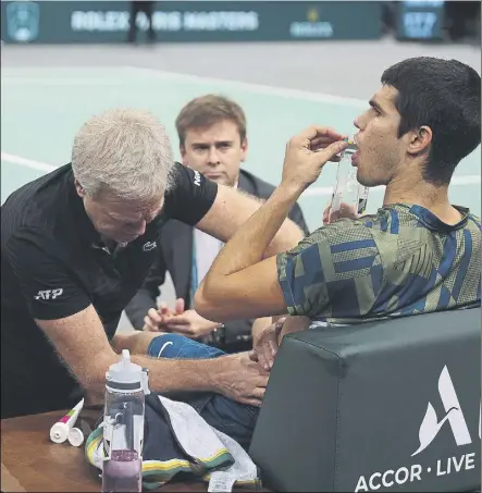
[[[323,165],[348,146],[345,135],[323,126],[310,126],[295,135],[286,146],[282,184],[301,193],[316,182]]]

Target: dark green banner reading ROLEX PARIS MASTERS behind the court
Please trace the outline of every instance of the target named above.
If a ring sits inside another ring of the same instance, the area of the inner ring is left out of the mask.
[[[2,1],[1,9],[7,44],[126,42],[131,25],[127,1]],[[147,32],[144,12],[135,22]],[[360,1],[165,1],[156,2],[152,25],[159,42],[376,39],[381,7]]]

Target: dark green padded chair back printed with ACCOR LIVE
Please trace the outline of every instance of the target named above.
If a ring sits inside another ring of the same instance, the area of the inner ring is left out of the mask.
[[[288,335],[250,455],[275,491],[474,491],[480,361],[480,308]]]

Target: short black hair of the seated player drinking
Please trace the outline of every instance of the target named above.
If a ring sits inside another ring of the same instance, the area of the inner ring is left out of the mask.
[[[392,65],[382,84],[397,89],[398,136],[432,130],[423,180],[447,184],[455,168],[481,141],[481,77],[456,60],[419,57]]]

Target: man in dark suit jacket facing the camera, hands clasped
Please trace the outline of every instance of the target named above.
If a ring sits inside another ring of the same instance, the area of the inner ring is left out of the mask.
[[[240,170],[248,141],[246,118],[234,101],[207,95],[188,102],[176,119],[183,163],[212,181],[234,186],[260,199],[268,199],[274,186]],[[301,209],[296,204],[289,218],[308,234]],[[193,307],[193,294],[215,259],[222,243],[180,221],[170,221],[161,239],[158,258],[143,287],[125,309],[137,330],[175,332],[227,353],[252,347],[252,319],[220,325],[200,317]],[[159,286],[170,272],[178,297],[174,310],[157,307]],[[259,329],[270,324],[258,319]]]

